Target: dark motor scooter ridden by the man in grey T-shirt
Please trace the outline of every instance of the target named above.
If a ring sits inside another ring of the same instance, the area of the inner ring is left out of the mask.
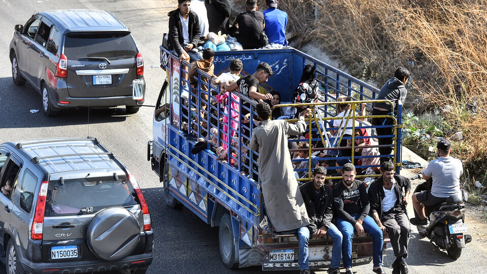
[[[421,175],[421,174],[420,174]],[[420,175],[413,179],[421,178]],[[432,180],[419,184],[414,193],[424,190],[431,190]],[[446,250],[451,259],[458,259],[462,254],[465,244],[472,241],[472,236],[465,234],[468,232],[465,223],[465,202],[468,193],[461,190],[460,193],[446,198],[446,202],[437,204],[434,207],[425,206],[425,215],[429,219],[428,225],[417,225],[418,233],[422,237],[427,237],[430,242],[440,249]],[[414,210],[414,215],[418,213]]]

